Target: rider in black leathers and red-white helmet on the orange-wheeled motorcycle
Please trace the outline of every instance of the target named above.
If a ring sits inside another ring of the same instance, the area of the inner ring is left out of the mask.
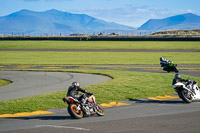
[[[78,92],[83,92],[83,93],[86,93],[88,95],[93,95],[93,93],[91,92],[88,92],[82,88],[80,88],[80,85],[78,82],[73,82],[71,86],[69,86],[68,88],[68,92],[67,92],[67,96],[71,96],[79,101],[81,101],[81,103],[85,103],[85,99],[86,99],[86,96],[84,94],[78,94]]]

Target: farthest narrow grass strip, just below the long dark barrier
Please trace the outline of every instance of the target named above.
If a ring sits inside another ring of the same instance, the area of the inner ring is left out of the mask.
[[[0,49],[200,49],[200,41],[0,41]]]

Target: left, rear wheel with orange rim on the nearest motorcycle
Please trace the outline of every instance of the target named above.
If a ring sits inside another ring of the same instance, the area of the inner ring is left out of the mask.
[[[74,119],[81,119],[83,117],[83,111],[78,109],[78,106],[74,103],[68,106],[68,112]]]

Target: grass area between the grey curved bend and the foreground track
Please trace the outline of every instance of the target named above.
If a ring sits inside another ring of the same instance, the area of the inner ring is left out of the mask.
[[[103,74],[113,77],[113,80],[108,82],[85,87],[85,89],[95,94],[98,103],[140,99],[175,93],[171,87],[174,74],[170,73],[163,74],[112,70],[68,71]],[[182,75],[182,77],[192,78],[197,82],[200,82],[200,78],[184,75]],[[66,93],[67,88],[66,91],[0,102],[0,114],[64,108],[67,105],[64,104],[61,99],[66,95]]]

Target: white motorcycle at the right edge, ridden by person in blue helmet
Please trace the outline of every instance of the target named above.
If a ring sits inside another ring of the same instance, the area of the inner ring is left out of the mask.
[[[187,80],[185,83],[178,82],[173,85],[173,88],[185,103],[200,100],[198,83],[194,80]]]

